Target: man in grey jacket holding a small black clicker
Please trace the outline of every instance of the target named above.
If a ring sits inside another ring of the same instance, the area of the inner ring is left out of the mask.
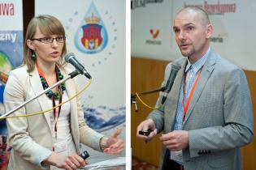
[[[245,74],[210,48],[213,26],[205,11],[185,7],[173,31],[184,57],[167,65],[163,86],[172,64],[180,70],[165,104],[138,125],[137,137],[150,140],[163,131],[160,169],[241,169],[240,147],[254,137]]]

